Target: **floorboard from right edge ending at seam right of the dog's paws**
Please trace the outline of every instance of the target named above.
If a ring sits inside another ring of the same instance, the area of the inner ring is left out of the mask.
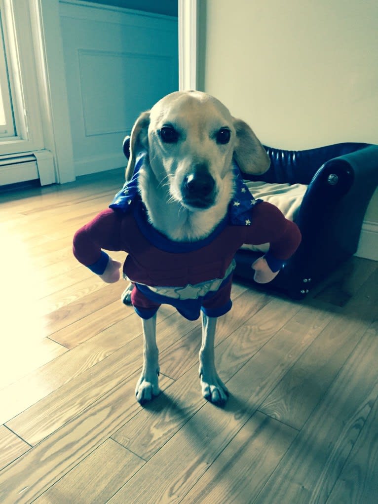
[[[378,271],[301,355],[284,379],[264,401],[261,410],[297,429],[317,406],[348,355],[376,317]],[[364,298],[364,302],[360,300]]]

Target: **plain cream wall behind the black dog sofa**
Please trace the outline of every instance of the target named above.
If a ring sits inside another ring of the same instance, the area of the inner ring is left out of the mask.
[[[199,89],[246,120],[263,143],[295,150],[378,144],[376,0],[199,6]],[[378,222],[378,193],[365,220]]]

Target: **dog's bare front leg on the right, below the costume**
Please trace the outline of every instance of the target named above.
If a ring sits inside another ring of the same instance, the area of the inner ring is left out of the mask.
[[[214,362],[214,338],[217,319],[202,313],[202,346],[200,350],[200,379],[205,399],[223,406],[229,395],[227,387],[218,376]]]

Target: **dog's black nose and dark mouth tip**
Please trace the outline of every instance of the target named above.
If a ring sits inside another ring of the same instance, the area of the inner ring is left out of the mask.
[[[188,173],[181,183],[182,201],[195,208],[209,208],[214,205],[216,184],[208,171]]]

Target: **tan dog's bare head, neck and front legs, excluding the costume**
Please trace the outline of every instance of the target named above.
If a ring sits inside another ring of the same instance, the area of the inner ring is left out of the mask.
[[[131,134],[127,180],[143,150],[149,169],[140,177],[140,190],[148,215],[156,229],[180,241],[208,236],[224,217],[233,193],[233,157],[244,173],[264,173],[270,165],[249,126],[219,100],[197,91],[167,95],[139,116]],[[197,191],[190,190],[190,181],[197,183]],[[204,397],[223,404],[228,391],[214,364],[216,321],[202,313],[199,372]],[[155,325],[155,318],[143,320],[146,351],[136,388],[141,402],[159,393]]]

